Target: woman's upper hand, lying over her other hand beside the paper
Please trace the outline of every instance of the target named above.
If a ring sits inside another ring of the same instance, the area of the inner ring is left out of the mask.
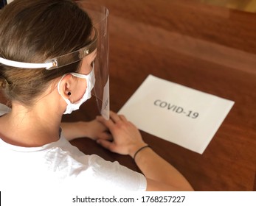
[[[117,115],[117,113],[111,111],[109,120],[102,116],[97,116],[96,119],[109,130],[109,132],[103,132],[98,136],[97,143],[100,143],[111,152],[129,154],[134,157],[139,148],[147,145],[142,140],[139,129],[130,121],[127,121],[125,116]],[[113,141],[107,141],[110,139],[113,139]]]

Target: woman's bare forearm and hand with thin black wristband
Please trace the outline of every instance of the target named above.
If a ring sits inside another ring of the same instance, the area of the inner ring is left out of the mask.
[[[108,127],[109,131],[102,133],[97,143],[100,143],[111,152],[129,154],[134,157],[136,151],[147,144],[142,140],[139,130],[125,116],[118,116],[111,112],[110,120],[97,117]],[[106,141],[113,138],[114,141]],[[135,157],[135,162],[147,178],[147,191],[193,191],[190,183],[170,163],[149,147],[140,150]]]

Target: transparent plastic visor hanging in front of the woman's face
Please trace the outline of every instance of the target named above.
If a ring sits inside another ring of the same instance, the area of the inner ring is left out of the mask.
[[[109,70],[108,70],[108,9],[87,1],[76,1],[91,18],[97,31],[97,57],[94,60],[95,96],[101,115],[109,118]]]

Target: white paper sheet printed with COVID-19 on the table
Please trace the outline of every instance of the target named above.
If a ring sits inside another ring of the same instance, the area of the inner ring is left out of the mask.
[[[234,103],[149,75],[119,114],[151,135],[202,154]]]

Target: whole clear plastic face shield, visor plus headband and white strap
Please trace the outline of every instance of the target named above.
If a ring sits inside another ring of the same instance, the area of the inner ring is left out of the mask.
[[[61,69],[83,60],[84,57],[97,49],[97,57],[94,60],[95,85],[91,93],[96,97],[97,106],[101,115],[109,118],[109,72],[108,72],[108,9],[86,1],[76,1],[79,7],[84,10],[92,20],[93,31],[91,42],[69,54],[46,60],[44,63],[21,63],[6,60],[0,57],[0,63],[17,68],[46,68],[52,70]]]

